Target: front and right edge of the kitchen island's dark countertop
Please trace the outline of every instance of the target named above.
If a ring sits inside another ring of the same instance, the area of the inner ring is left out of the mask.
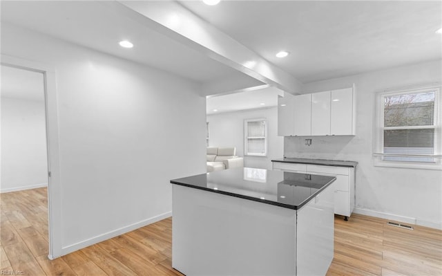
[[[320,194],[320,192],[323,192],[323,190],[325,190],[325,188],[328,187],[329,185],[331,185],[334,181],[336,181],[336,177],[334,177],[334,179],[332,179],[327,184],[325,184],[323,187],[321,187],[314,194],[311,194],[309,197],[307,197],[307,199],[305,199],[305,201],[302,201],[302,203],[300,203],[300,205],[291,205],[291,204],[279,203],[279,202],[275,202],[275,201],[268,201],[266,199],[258,199],[258,198],[253,197],[253,196],[244,196],[242,194],[235,194],[235,193],[231,193],[231,192],[225,192],[225,191],[222,191],[222,190],[213,190],[213,189],[209,189],[207,187],[201,187],[201,186],[189,185],[189,184],[186,184],[186,183],[180,183],[180,182],[177,182],[177,181],[174,181],[174,180],[171,180],[171,183],[172,184],[176,184],[176,185],[180,185],[180,186],[184,186],[184,187],[190,187],[190,188],[193,188],[193,189],[203,190],[203,191],[207,191],[207,192],[213,192],[215,194],[224,194],[224,195],[227,195],[227,196],[238,197],[240,199],[247,199],[249,201],[256,201],[256,202],[265,203],[265,204],[269,204],[269,205],[275,205],[275,206],[282,207],[282,208],[287,208],[287,209],[292,209],[292,210],[299,210],[300,208],[302,208],[302,206],[304,206],[305,204],[309,203],[311,201],[311,199],[314,199],[315,196]]]

